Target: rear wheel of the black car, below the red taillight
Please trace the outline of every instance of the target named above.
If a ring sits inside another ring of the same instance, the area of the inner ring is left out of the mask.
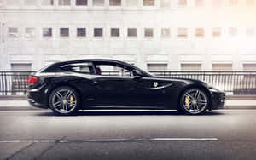
[[[59,87],[49,95],[49,106],[58,116],[74,115],[80,106],[79,94],[70,87]]]

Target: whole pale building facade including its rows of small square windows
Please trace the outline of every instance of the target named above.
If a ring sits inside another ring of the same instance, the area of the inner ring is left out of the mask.
[[[256,71],[256,0],[0,0],[0,70],[125,60],[149,71]]]

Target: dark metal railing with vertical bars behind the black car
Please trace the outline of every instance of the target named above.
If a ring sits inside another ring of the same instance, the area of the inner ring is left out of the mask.
[[[227,94],[256,94],[256,71],[150,71],[155,76],[191,78],[211,83]],[[34,71],[0,71],[0,95],[26,94],[26,80]],[[118,76],[119,71],[102,71]],[[127,76],[127,74],[125,73]]]

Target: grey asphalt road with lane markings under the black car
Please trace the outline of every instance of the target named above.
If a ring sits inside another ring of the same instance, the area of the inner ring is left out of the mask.
[[[0,111],[0,159],[256,159],[256,110]]]

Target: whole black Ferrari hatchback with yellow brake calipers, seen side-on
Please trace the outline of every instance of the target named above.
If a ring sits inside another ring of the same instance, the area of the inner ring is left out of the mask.
[[[119,60],[57,62],[27,82],[32,106],[50,108],[56,115],[88,109],[175,109],[198,115],[225,103],[225,93],[208,83],[155,77]]]

